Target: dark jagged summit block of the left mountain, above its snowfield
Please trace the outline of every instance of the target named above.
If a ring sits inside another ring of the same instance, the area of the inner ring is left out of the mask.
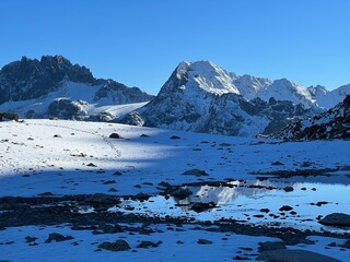
[[[57,90],[62,80],[89,84],[95,81],[88,68],[61,56],[44,56],[40,60],[23,57],[0,71],[0,104],[40,97]]]

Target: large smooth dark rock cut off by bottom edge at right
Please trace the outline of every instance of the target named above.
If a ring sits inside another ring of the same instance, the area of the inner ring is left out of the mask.
[[[340,262],[340,260],[315,253],[306,250],[269,250],[259,254],[257,260],[260,261],[279,261],[279,262]]]

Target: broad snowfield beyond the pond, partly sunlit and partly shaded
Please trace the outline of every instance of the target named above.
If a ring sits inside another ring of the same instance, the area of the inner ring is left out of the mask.
[[[110,184],[103,181],[110,179],[120,195],[155,193],[161,181],[201,181],[183,175],[194,168],[205,169],[206,180],[252,179],[253,171],[295,170],[305,163],[347,166],[350,157],[348,141],[278,143],[102,122],[11,121],[0,123],[0,132],[1,195],[106,193]],[[109,139],[110,133],[124,139]],[[349,180],[341,174],[331,178]]]

